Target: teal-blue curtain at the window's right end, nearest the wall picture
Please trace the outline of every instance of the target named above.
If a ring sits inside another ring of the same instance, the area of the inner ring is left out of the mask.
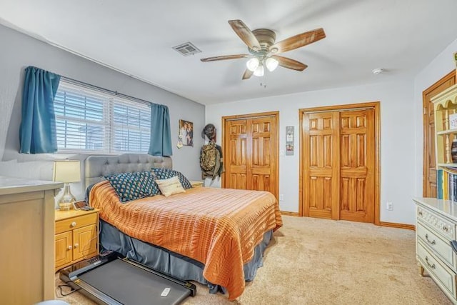
[[[151,142],[148,154],[171,156],[171,130],[169,107],[151,104]]]

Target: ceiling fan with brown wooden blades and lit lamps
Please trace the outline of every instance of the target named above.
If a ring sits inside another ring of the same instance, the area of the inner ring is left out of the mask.
[[[251,31],[241,20],[229,20],[229,24],[233,31],[248,46],[250,54],[214,56],[200,60],[206,62],[250,58],[246,62],[247,69],[243,74],[243,79],[249,79],[252,75],[263,76],[265,68],[268,71],[273,71],[277,66],[303,71],[308,67],[306,64],[276,54],[301,48],[326,37],[323,29],[319,28],[275,42],[276,34],[270,29],[256,29]]]

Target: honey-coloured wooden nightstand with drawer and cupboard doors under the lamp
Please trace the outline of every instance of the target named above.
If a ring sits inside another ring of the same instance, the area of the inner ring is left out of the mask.
[[[56,211],[56,271],[99,254],[99,210]]]

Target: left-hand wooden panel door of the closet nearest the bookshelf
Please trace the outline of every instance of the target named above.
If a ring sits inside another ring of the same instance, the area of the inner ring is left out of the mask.
[[[339,113],[303,114],[304,216],[339,219]]]

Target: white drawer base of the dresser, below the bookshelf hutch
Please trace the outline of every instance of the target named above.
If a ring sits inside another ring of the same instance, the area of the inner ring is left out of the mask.
[[[451,301],[457,303],[457,255],[451,241],[456,240],[457,203],[434,198],[415,198],[416,258],[419,272],[436,282]]]

